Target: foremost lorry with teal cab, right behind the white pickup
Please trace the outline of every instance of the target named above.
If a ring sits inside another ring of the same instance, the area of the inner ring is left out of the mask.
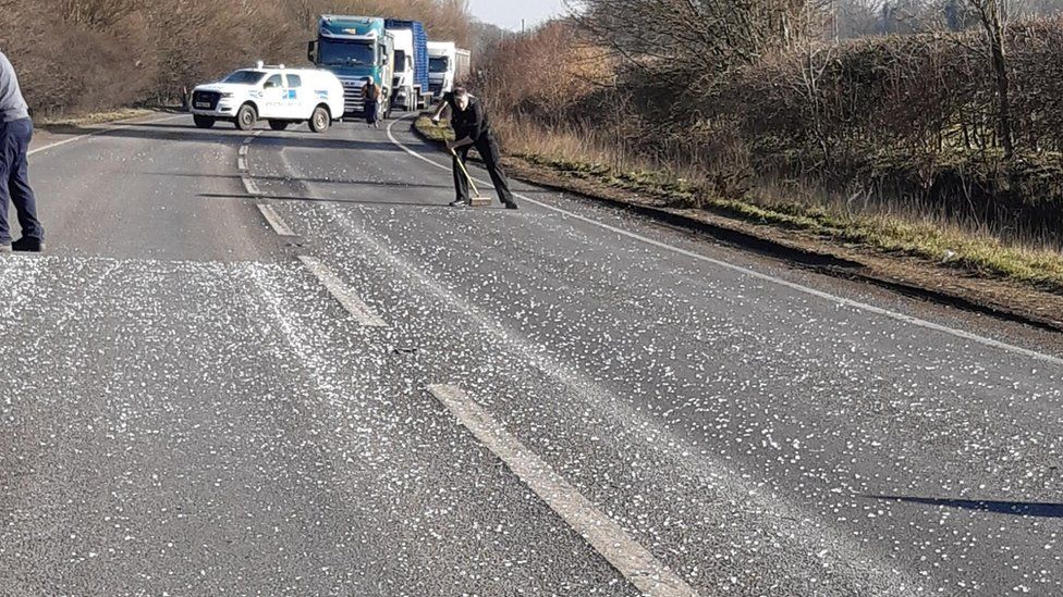
[[[394,36],[383,18],[326,14],[318,22],[317,39],[307,46],[306,58],[343,83],[344,116],[364,115],[362,87],[372,77],[382,90],[378,115],[390,117],[394,53]]]

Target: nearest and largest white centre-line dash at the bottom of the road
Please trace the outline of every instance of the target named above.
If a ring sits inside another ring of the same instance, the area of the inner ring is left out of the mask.
[[[691,585],[636,543],[520,439],[506,432],[461,388],[433,385],[428,390],[644,595],[697,597],[697,592]]]

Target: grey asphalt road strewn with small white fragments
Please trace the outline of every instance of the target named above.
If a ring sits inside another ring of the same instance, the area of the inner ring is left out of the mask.
[[[408,121],[34,147],[2,595],[1063,594],[1049,333],[527,185],[447,208]]]

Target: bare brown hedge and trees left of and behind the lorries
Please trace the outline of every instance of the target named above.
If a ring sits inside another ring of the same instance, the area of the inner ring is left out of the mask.
[[[175,101],[186,88],[257,60],[306,63],[329,12],[424,21],[469,41],[451,0],[0,0],[0,50],[38,113]]]

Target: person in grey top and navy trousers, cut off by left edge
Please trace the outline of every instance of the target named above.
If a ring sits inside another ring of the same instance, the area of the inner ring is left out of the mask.
[[[0,52],[0,251],[42,251],[45,229],[37,220],[37,200],[29,187],[29,140],[33,120],[19,77]],[[14,203],[22,238],[11,241],[8,203]]]

